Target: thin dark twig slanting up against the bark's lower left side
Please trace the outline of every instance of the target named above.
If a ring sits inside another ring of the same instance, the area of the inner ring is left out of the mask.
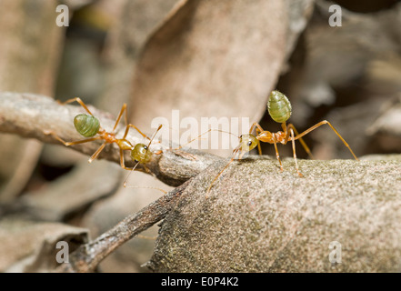
[[[135,215],[126,217],[118,225],[98,236],[90,243],[79,246],[69,256],[69,263],[59,266],[57,272],[93,272],[95,267],[127,240],[165,218],[175,206],[190,180],[145,206]]]

